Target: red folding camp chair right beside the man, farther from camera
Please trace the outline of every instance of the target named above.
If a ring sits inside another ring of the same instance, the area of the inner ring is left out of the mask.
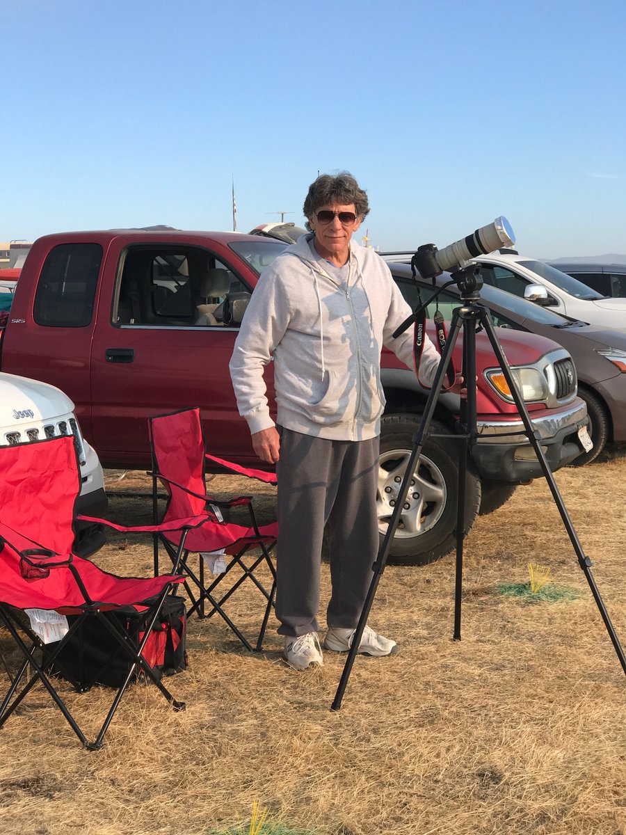
[[[186,574],[185,589],[191,604],[187,615],[194,612],[199,617],[210,617],[219,614],[230,626],[241,643],[248,650],[252,650],[249,640],[241,632],[224,610],[227,600],[235,593],[245,580],[259,590],[265,599],[265,612],[258,634],[255,650],[259,651],[263,644],[267,621],[274,601],[275,567],[271,559],[278,536],[278,524],[258,525],[255,511],[249,496],[238,496],[227,502],[218,502],[206,492],[205,462],[209,458],[220,468],[229,468],[235,473],[248,478],[257,478],[265,483],[275,483],[274,473],[264,473],[260,470],[245,469],[230,464],[222,458],[207,455],[204,448],[204,434],[198,408],[184,409],[180,412],[159,415],[149,418],[150,444],[153,454],[153,503],[154,519],[157,522],[157,487],[162,482],[168,493],[168,503],[163,519],[159,524],[158,537],[174,562],[180,559],[180,570]],[[225,508],[245,507],[250,514],[250,525],[244,526],[225,522],[221,511]],[[179,557],[181,534],[172,528],[179,519],[195,519],[197,527],[189,530],[184,543],[184,549]],[[169,528],[169,529],[168,529]],[[228,562],[223,574],[211,579],[209,584],[204,580],[204,559],[202,554],[212,554],[224,551]],[[190,564],[189,554],[200,554],[198,570]],[[154,547],[154,573],[159,567],[158,543]],[[271,577],[270,591],[255,574],[260,566],[269,569]],[[237,579],[230,584],[234,569]],[[239,573],[240,571],[240,573]],[[220,589],[218,589],[220,586]],[[225,593],[222,594],[222,590]],[[205,610],[204,604],[209,604]]]

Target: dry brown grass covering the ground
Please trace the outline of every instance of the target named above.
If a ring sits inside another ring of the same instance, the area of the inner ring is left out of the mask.
[[[626,458],[557,480],[626,642]],[[111,487],[142,484],[130,473]],[[272,488],[257,498],[270,518]],[[149,503],[116,498],[111,513],[139,524]],[[128,537],[97,555],[120,573],[149,573],[151,559],[149,540]],[[497,594],[498,584],[527,582],[531,561],[578,596]],[[250,655],[219,620],[192,620],[189,670],[168,681],[187,711],[134,686],[97,753],[38,690],[0,732],[0,831],[200,835],[250,820],[259,801],[270,821],[319,835],[624,835],[626,680],[543,480],[468,537],[461,641],[451,640],[453,584],[453,554],[386,568],[370,620],[401,652],[358,658],[336,713],[344,657],[291,671],[275,623],[265,652]],[[322,606],[328,592],[325,574]],[[254,604],[247,595],[236,607],[250,627]],[[106,697],[68,693],[94,728]]]

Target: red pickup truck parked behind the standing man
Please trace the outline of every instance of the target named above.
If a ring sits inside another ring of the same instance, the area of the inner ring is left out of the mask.
[[[28,254],[3,331],[3,371],[52,383],[76,405],[104,467],[149,468],[147,418],[199,406],[210,451],[255,463],[228,362],[250,293],[286,244],[259,235],[183,230],[107,230],[47,235]],[[568,353],[543,337],[502,331],[512,367],[526,369],[528,410],[550,466],[582,451],[583,402]],[[461,346],[458,346],[459,351]],[[467,528],[517,483],[541,474],[487,338],[477,338],[478,433],[467,475]],[[461,367],[460,354],[455,358]],[[267,367],[272,392],[272,367]],[[379,519],[391,517],[427,392],[391,352],[382,357]],[[526,395],[525,395],[526,396]],[[416,468],[391,558],[437,559],[454,546],[458,397],[442,395]],[[0,443],[2,443],[0,439]],[[482,496],[482,498],[481,498]],[[481,504],[482,503],[482,504]]]

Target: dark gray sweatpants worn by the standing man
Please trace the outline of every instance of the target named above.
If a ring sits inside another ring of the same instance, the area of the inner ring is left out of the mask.
[[[319,630],[321,548],[328,524],[328,626],[354,629],[378,550],[379,439],[331,441],[280,428],[276,616],[280,635]]]

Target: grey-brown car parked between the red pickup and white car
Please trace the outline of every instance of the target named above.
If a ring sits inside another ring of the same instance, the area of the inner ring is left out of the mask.
[[[432,296],[431,281],[414,281],[406,265],[389,266],[411,307],[418,304],[418,289],[424,301]],[[437,286],[446,281],[450,281],[449,273],[437,278]],[[578,397],[587,403],[588,432],[593,443],[593,449],[582,452],[573,464],[593,461],[606,443],[626,441],[626,333],[561,316],[494,286],[482,287],[481,302],[491,312],[494,325],[550,337],[571,355],[578,375]],[[452,285],[442,291],[438,304],[444,318],[452,319],[452,311],[459,305],[457,287]],[[435,307],[434,302],[428,306],[429,318]]]

